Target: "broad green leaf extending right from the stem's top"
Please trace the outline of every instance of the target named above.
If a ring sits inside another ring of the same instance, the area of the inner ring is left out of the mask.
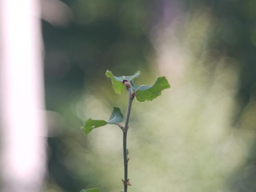
[[[143,102],[145,100],[153,100],[161,95],[162,90],[170,88],[170,84],[168,83],[165,77],[157,78],[156,82],[153,85],[135,85],[135,83],[131,82],[132,89],[136,90],[136,98],[139,102]]]

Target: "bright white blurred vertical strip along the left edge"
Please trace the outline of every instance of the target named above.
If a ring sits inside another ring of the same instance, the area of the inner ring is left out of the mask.
[[[39,0],[0,1],[0,180],[4,192],[37,192],[45,176],[39,13]]]

